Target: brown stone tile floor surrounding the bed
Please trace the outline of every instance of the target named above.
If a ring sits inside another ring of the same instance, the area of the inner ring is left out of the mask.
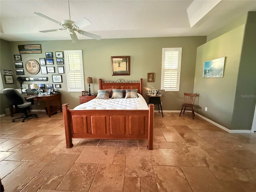
[[[62,113],[37,114],[24,123],[0,119],[6,192],[256,191],[256,133],[155,113],[154,150],[146,140],[74,139],[66,148]]]

